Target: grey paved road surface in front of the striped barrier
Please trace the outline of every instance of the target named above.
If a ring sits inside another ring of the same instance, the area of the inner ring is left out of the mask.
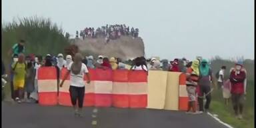
[[[71,107],[42,107],[9,102],[2,102],[2,127],[226,128],[209,115],[186,115],[181,111],[85,107],[83,117],[75,117]]]

